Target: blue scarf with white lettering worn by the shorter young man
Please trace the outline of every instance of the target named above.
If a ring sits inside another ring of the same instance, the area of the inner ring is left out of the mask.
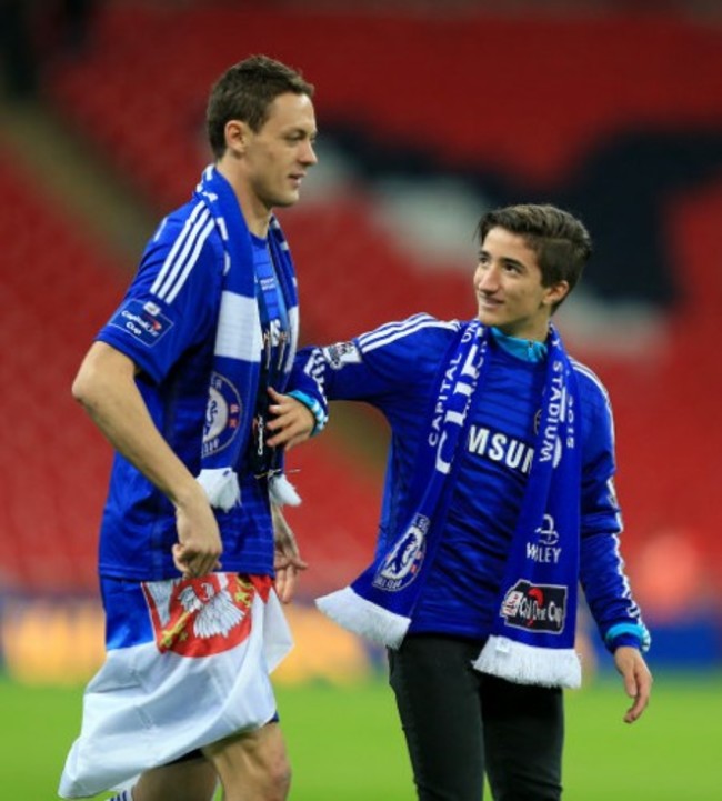
[[[442,537],[458,445],[473,396],[483,391],[489,336],[477,321],[463,327],[439,372],[401,534],[350,587],[317,600],[344,628],[389,648],[409,629]],[[579,394],[553,327],[546,363],[534,458],[491,635],[474,667],[517,683],[579,687]]]

